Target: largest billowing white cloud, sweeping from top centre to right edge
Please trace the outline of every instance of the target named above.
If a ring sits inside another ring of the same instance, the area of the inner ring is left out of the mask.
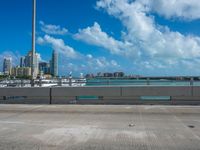
[[[156,0],[156,2],[163,1]],[[122,41],[118,42],[129,43],[129,47],[122,46],[120,49],[126,56],[137,54],[134,64],[138,67],[143,65],[154,69],[169,68],[169,65],[183,65],[185,63],[180,62],[200,58],[200,38],[192,35],[185,36],[157,24],[154,16],[149,13],[155,10],[153,8],[153,6],[157,7],[155,5],[150,0],[100,0],[97,2],[98,9],[103,9],[109,15],[119,19],[126,28]],[[90,39],[89,34],[88,36]]]

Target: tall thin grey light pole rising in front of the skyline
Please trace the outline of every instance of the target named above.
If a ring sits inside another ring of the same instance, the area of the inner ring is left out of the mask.
[[[32,62],[31,62],[31,79],[34,86],[35,79],[35,27],[36,27],[36,0],[32,0]]]

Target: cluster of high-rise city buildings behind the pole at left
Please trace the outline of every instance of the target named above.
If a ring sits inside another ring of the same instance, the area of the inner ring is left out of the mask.
[[[51,59],[47,61],[39,60],[39,53],[35,53],[32,57],[32,51],[29,51],[25,56],[21,56],[20,63],[12,65],[12,57],[5,57],[3,60],[3,75],[11,77],[32,77],[31,67],[32,58],[34,59],[34,78],[58,77],[58,53],[53,50]],[[2,74],[1,74],[2,75]]]

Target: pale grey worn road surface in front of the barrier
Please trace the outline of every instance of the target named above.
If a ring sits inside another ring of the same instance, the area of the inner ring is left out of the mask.
[[[0,150],[200,150],[200,106],[0,105]]]

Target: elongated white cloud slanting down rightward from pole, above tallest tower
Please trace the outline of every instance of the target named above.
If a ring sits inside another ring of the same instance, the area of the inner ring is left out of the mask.
[[[58,51],[60,54],[65,55],[65,57],[67,58],[76,59],[81,57],[81,55],[77,51],[75,51],[72,47],[66,45],[62,39],[57,39],[49,35],[45,35],[44,37],[38,37],[37,43],[50,44],[53,49]]]

